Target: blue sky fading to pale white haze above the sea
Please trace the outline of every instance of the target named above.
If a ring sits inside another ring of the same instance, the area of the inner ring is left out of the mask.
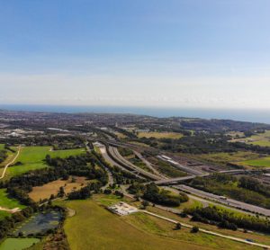
[[[0,0],[0,103],[270,109],[269,9]]]

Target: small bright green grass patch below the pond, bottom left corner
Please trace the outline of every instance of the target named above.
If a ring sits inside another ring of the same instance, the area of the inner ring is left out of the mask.
[[[7,238],[1,244],[0,250],[23,250],[39,241],[38,238]]]

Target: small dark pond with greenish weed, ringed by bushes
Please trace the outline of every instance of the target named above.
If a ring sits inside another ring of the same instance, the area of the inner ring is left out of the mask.
[[[61,218],[62,213],[58,210],[39,212],[15,228],[13,235],[18,236],[21,232],[23,236],[46,233],[49,229],[57,228]]]

